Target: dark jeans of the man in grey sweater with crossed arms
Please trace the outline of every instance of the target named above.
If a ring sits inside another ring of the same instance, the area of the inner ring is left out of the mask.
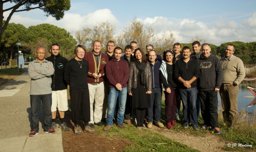
[[[31,105],[31,131],[39,131],[39,109],[43,104],[45,118],[43,120],[45,131],[51,129],[51,94],[46,95],[30,95]]]

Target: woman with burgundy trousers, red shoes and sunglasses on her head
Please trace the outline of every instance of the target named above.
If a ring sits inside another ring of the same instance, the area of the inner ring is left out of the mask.
[[[163,52],[163,61],[160,67],[160,79],[163,83],[163,91],[165,93],[165,113],[167,128],[176,126],[174,121],[176,113],[176,105],[178,98],[178,91],[176,90],[176,83],[173,80],[173,65],[174,65],[173,50],[167,49]]]

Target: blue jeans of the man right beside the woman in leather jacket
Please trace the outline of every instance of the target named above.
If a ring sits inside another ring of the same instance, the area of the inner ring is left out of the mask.
[[[151,107],[147,108],[147,121],[153,122],[153,105],[155,101],[155,122],[161,121],[161,100],[162,93],[161,88],[152,88],[152,93],[150,94]]]

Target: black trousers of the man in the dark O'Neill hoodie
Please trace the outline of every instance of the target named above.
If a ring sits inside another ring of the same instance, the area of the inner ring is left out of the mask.
[[[199,90],[201,114],[204,125],[218,127],[218,96],[214,90]]]

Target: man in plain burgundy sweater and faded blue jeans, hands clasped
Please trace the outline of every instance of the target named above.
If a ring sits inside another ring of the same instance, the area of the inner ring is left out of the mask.
[[[109,102],[107,104],[107,125],[103,130],[109,130],[113,125],[114,110],[119,97],[119,108],[117,113],[117,127],[125,129],[123,119],[127,97],[127,81],[129,78],[129,65],[121,59],[122,48],[114,49],[115,58],[106,65],[106,75],[110,82]]]

